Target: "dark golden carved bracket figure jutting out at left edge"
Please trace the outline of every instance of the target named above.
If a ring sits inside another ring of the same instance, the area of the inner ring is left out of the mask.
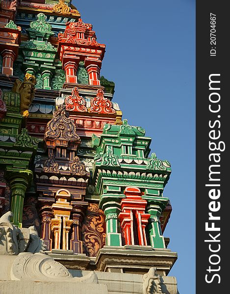
[[[34,75],[26,73],[24,81],[16,80],[12,92],[19,93],[21,98],[20,111],[21,114],[26,116],[29,106],[34,98],[34,88],[36,84],[36,78]]]

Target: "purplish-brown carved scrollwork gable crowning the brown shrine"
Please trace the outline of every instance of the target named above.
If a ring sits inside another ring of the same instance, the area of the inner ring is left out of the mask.
[[[75,123],[69,118],[69,113],[65,110],[64,105],[58,105],[58,109],[54,112],[53,118],[47,124],[47,130],[44,135],[45,140],[58,140],[67,142],[80,143],[77,135]]]

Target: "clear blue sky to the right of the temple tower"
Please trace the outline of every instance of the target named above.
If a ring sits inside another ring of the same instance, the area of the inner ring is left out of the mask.
[[[152,137],[172,165],[164,232],[178,261],[180,294],[195,293],[195,0],[74,0],[106,44],[101,74],[115,82],[123,118]]]

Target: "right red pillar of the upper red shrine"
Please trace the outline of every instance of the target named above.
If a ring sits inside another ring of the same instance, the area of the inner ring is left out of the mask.
[[[89,75],[89,84],[94,86],[100,86],[100,70],[102,67],[101,60],[95,60],[90,58],[85,58],[85,68]]]

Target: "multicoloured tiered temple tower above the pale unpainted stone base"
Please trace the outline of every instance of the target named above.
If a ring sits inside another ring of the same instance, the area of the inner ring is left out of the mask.
[[[0,1],[0,215],[67,268],[167,275],[171,166],[122,119],[104,53],[71,1]]]

